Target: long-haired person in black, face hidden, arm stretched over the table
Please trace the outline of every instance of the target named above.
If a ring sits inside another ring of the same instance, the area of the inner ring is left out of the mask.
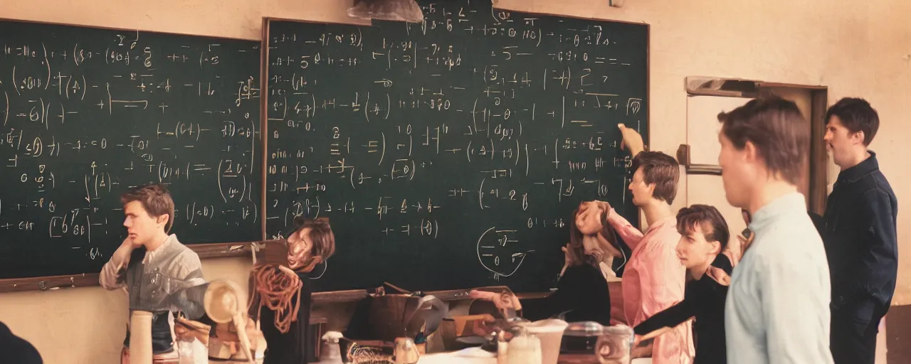
[[[622,274],[630,248],[617,238],[607,222],[609,209],[599,201],[579,204],[569,243],[562,248],[564,265],[557,290],[547,298],[518,301],[492,292],[472,291],[472,298],[492,300],[497,308],[521,310],[525,319],[548,319],[564,314],[568,322],[596,321],[610,325],[607,278]]]

